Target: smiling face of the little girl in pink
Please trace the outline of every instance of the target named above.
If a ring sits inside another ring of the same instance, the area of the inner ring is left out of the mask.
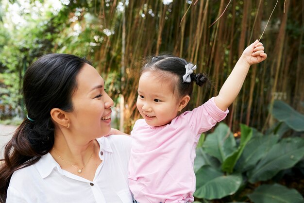
[[[179,111],[180,101],[173,94],[172,81],[162,81],[161,75],[146,71],[139,79],[136,106],[150,126],[168,124]]]

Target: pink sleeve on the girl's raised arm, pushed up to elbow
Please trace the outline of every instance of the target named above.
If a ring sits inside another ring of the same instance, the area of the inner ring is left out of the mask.
[[[189,127],[193,132],[201,134],[226,118],[228,112],[228,109],[226,111],[220,110],[215,104],[213,97],[192,111],[185,112],[182,116],[188,120]]]

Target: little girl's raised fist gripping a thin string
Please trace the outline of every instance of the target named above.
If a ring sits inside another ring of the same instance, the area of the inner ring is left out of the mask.
[[[249,45],[242,53],[241,58],[245,60],[249,65],[258,64],[267,58],[267,54],[264,52],[264,47],[261,42],[255,40]]]

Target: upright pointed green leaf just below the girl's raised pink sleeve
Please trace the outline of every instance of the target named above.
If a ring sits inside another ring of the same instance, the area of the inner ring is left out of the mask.
[[[229,127],[220,123],[215,131],[209,134],[203,143],[203,150],[222,163],[226,157],[236,151],[236,140]]]

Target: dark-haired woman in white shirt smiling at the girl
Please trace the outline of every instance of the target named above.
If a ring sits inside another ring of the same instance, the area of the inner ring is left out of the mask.
[[[48,54],[23,81],[27,118],[5,147],[0,202],[133,203],[128,136],[104,137],[113,100],[90,63]]]

